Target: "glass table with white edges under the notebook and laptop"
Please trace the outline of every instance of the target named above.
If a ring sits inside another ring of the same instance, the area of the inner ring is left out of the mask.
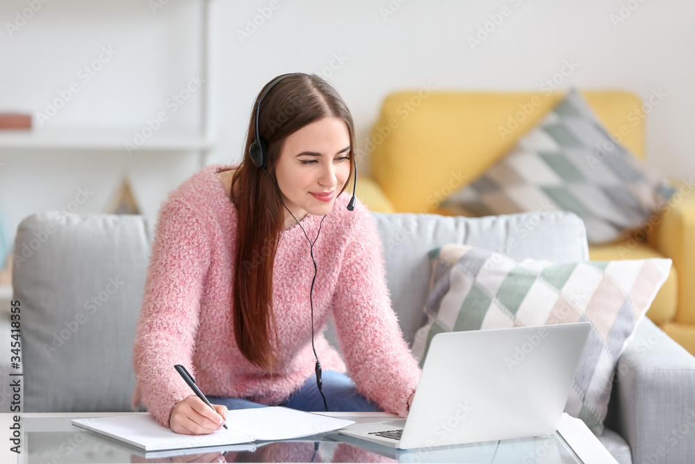
[[[615,462],[583,422],[563,415],[552,435],[498,440],[452,447],[399,450],[339,433],[323,433],[297,440],[255,442],[214,448],[156,451],[145,454],[119,440],[73,426],[76,417],[104,417],[127,413],[23,414],[19,422],[20,453],[4,445],[0,461],[21,464],[70,463],[218,463],[218,462],[341,462],[341,463],[611,463]],[[138,414],[138,413],[133,413]],[[142,413],[139,413],[142,414]],[[326,414],[326,413],[324,413]],[[384,413],[330,413],[356,422],[393,419]],[[8,431],[12,415],[2,415]],[[11,438],[12,431],[10,431]],[[587,435],[588,434],[588,435]],[[16,435],[15,435],[16,436]],[[593,440],[592,440],[593,438]],[[7,443],[7,439],[3,439]],[[9,460],[8,460],[9,459]],[[221,459],[221,461],[220,461]],[[11,461],[10,461],[11,460]]]

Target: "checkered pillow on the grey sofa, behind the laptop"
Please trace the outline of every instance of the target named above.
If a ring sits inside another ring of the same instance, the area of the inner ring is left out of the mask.
[[[589,321],[565,411],[603,433],[616,362],[666,281],[671,259],[516,262],[458,244],[432,250],[430,259],[429,321],[412,347],[420,365],[441,332]]]

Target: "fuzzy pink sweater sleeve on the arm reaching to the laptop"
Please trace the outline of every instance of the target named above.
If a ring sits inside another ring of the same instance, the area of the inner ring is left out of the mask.
[[[332,302],[338,344],[357,391],[405,417],[420,368],[391,308],[382,242],[371,214],[358,202],[350,216]]]

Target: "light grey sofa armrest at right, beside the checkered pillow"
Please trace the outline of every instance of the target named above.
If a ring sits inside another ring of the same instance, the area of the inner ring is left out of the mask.
[[[692,462],[695,358],[644,317],[615,375],[606,426],[628,442],[632,462]]]

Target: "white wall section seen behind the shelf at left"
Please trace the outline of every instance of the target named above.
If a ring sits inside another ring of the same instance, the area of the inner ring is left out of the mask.
[[[166,109],[162,130],[197,128],[197,93],[174,113],[165,102],[201,71],[199,2],[177,1],[153,14],[141,0],[51,0],[10,35],[7,23],[26,8],[26,0],[0,3],[0,111],[33,113],[37,130],[134,131]],[[79,91],[40,122],[38,113],[47,113],[47,102],[66,95],[71,84]],[[126,173],[143,212],[156,214],[167,191],[193,173],[197,157],[0,149],[0,162],[0,209],[14,231],[34,211],[67,207],[85,187],[93,194],[77,212],[104,211]]]

